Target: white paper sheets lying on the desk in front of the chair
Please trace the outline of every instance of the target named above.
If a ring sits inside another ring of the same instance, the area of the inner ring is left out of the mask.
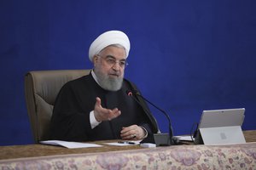
[[[51,145],[61,145],[69,149],[75,148],[92,148],[92,147],[102,147],[100,144],[88,144],[79,142],[67,142],[63,140],[44,140],[40,141],[41,144],[51,144]]]

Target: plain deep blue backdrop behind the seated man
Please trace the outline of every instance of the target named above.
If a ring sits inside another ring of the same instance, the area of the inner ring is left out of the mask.
[[[26,72],[90,69],[90,42],[108,30],[130,37],[125,77],[168,112],[174,134],[189,133],[203,110],[240,107],[242,128],[256,129],[255,8],[254,0],[1,0],[0,145],[32,144]]]

